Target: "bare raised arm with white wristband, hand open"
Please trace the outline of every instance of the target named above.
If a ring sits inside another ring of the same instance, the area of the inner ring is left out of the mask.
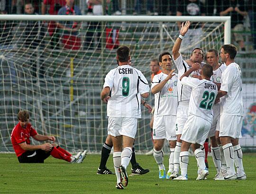
[[[176,60],[180,56],[179,50],[181,47],[182,39],[183,39],[184,35],[187,33],[189,26],[190,26],[190,21],[186,21],[185,24],[184,24],[184,22],[182,23],[180,35],[176,39],[174,47],[173,47],[174,60]]]

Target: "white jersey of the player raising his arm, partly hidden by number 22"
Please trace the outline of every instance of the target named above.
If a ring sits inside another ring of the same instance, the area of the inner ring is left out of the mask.
[[[205,64],[204,62],[201,63],[201,65]],[[185,101],[185,100],[189,100],[190,96],[191,96],[191,91],[192,88],[182,85],[181,81],[180,81],[180,77],[186,72],[188,71],[191,66],[188,65],[187,62],[185,62],[182,58],[182,55],[180,54],[180,56],[175,60],[175,65],[178,69],[178,84],[177,84],[177,88],[178,88],[178,100],[179,102],[181,101]],[[200,75],[200,71],[193,71],[190,76],[192,75]]]

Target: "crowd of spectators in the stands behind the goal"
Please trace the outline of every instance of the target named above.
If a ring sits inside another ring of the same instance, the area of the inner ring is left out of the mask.
[[[1,0],[0,12],[1,14],[50,15],[231,16],[231,29],[234,32],[232,42],[236,43],[241,51],[256,50],[256,2],[254,0],[135,0],[131,2],[127,0],[125,8],[121,8],[121,0],[106,0],[104,8],[102,7],[103,0],[84,1],[79,5],[79,2],[75,0]],[[32,23],[35,24],[35,22]],[[3,44],[7,42],[4,41],[4,38],[9,34],[3,30],[4,26],[0,25],[2,28],[0,43]],[[66,49],[91,49],[94,33],[86,34],[86,45],[81,47],[80,37],[77,36],[81,29],[79,23],[61,25],[49,22],[47,28],[47,33],[50,36],[54,36],[58,29],[67,31],[64,32],[63,36],[65,37],[62,39]],[[87,28],[91,31],[99,26],[97,22],[91,22]],[[195,28],[201,28],[201,26],[198,25]],[[37,30],[33,29],[34,32]],[[68,36],[71,31],[72,36]],[[246,46],[244,43],[244,35],[247,35],[244,34],[244,31],[250,32],[252,35],[249,38],[251,46]],[[101,47],[100,43],[97,47]]]

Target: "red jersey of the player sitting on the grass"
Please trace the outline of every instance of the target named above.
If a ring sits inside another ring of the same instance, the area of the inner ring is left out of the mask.
[[[18,123],[11,132],[11,143],[12,147],[19,157],[21,156],[26,150],[23,150],[19,143],[25,142],[30,144],[30,136],[37,135],[37,131],[33,129],[30,123],[27,124],[26,129],[22,128],[20,123]]]

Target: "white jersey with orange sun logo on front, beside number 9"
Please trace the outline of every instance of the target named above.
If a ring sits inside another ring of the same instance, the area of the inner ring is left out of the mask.
[[[161,72],[154,76],[151,89],[162,82],[168,75]],[[155,112],[156,116],[176,115],[178,107],[177,93],[178,74],[169,79],[161,91],[155,94]]]

